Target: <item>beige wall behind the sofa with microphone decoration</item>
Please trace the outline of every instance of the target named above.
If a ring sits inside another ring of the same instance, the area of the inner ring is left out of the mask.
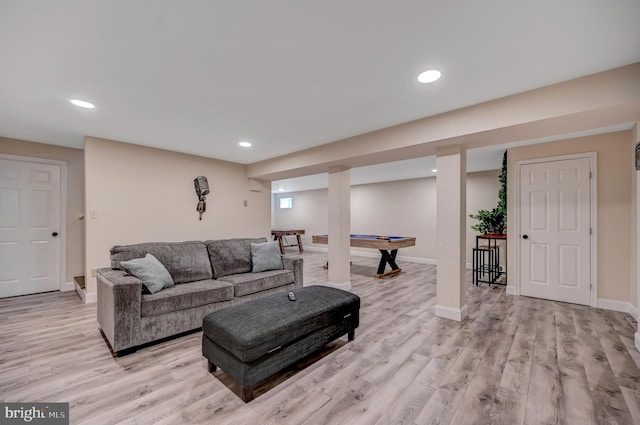
[[[117,244],[270,236],[270,190],[251,191],[244,165],[93,137],[84,153],[88,277],[110,265]],[[199,175],[211,189],[202,221],[193,185]],[[95,290],[88,278],[87,291]]]

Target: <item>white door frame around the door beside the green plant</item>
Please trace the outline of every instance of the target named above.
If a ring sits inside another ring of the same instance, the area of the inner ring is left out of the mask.
[[[598,306],[598,154],[596,152],[585,152],[585,153],[576,153],[570,155],[561,155],[561,156],[551,156],[545,158],[536,158],[536,159],[524,159],[521,161],[517,161],[515,163],[517,172],[515,173],[516,177],[516,214],[515,214],[515,223],[516,223],[516,234],[514,238],[517,240],[514,241],[516,247],[516,261],[515,261],[515,273],[513,274],[515,277],[515,294],[521,295],[520,289],[520,254],[521,254],[521,244],[522,244],[522,228],[520,223],[520,175],[521,169],[523,165],[527,164],[536,164],[542,162],[553,162],[553,161],[565,161],[570,159],[589,159],[589,171],[591,173],[591,178],[589,179],[589,187],[590,187],[590,205],[589,205],[589,216],[590,216],[590,228],[591,228],[591,237],[590,241],[590,251],[591,255],[589,258],[590,264],[590,280],[591,280],[591,307]],[[513,239],[512,239],[513,240]],[[509,274],[511,276],[511,273]]]

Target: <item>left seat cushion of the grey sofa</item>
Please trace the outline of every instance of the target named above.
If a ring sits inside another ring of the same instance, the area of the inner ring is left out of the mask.
[[[233,298],[233,285],[219,280],[200,280],[175,285],[155,294],[143,294],[141,316],[153,316]]]

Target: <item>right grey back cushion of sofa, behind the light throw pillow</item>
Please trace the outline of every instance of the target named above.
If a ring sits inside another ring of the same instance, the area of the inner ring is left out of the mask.
[[[207,250],[213,277],[218,279],[238,273],[251,271],[251,243],[266,242],[267,238],[237,238],[207,241]]]

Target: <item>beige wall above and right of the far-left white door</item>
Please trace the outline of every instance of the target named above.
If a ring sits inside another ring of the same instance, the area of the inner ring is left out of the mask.
[[[84,157],[82,150],[0,137],[0,153],[67,164],[66,281],[84,274]]]

